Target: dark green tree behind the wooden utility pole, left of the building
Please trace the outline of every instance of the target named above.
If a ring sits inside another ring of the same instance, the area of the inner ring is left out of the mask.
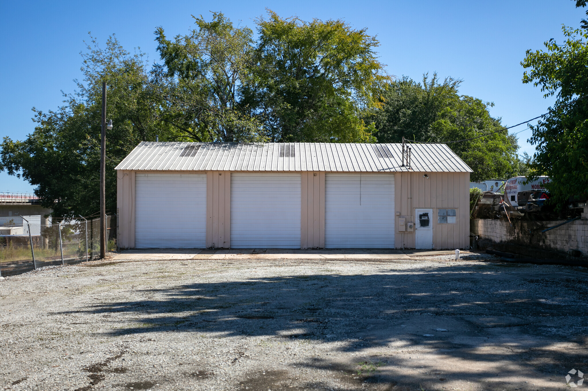
[[[108,84],[106,209],[116,212],[115,166],[140,141],[176,140],[182,132],[162,122],[162,91],[149,80],[142,53],[130,55],[115,37],[99,49],[94,39],[83,57],[83,82],[65,105],[36,110],[36,127],[25,140],[2,142],[0,169],[36,185],[42,205],[55,217],[89,216],[99,210],[102,81]]]

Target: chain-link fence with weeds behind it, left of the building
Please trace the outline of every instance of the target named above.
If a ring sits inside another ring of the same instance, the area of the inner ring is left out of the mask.
[[[100,256],[100,219],[41,224],[40,217],[0,217],[0,276],[71,265]],[[116,249],[115,216],[107,216],[106,228],[106,251],[112,251]]]

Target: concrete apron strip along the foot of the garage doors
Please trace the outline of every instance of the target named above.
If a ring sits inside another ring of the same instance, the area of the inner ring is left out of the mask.
[[[410,256],[455,254],[455,250],[285,250],[285,249],[145,249],[125,250],[112,260],[190,260],[190,259],[354,259],[393,260]]]

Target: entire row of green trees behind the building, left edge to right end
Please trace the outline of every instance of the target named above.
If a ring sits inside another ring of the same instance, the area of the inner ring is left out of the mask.
[[[459,80],[393,79],[379,42],[340,20],[281,18],[268,10],[257,34],[221,12],[171,39],[155,31],[161,63],[148,64],[111,36],[82,53],[82,81],[64,106],[35,108],[25,140],[4,138],[0,170],[36,185],[55,217],[98,211],[101,85],[108,85],[106,208],[116,211],[113,168],[140,141],[450,141],[499,130],[488,103],[460,96]],[[498,132],[450,144],[473,179],[520,174],[516,138]]]

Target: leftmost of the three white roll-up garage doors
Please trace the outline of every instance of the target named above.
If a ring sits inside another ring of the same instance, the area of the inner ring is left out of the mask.
[[[135,175],[135,247],[206,247],[206,174]]]

